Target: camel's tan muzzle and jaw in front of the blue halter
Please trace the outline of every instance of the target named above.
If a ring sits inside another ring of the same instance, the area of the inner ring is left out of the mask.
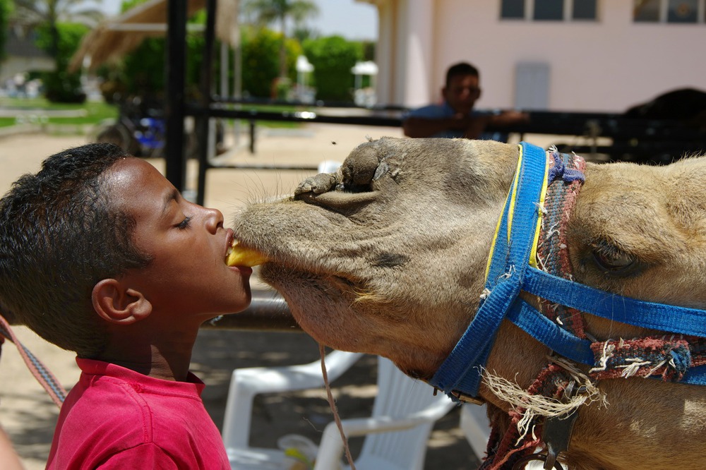
[[[339,174],[247,207],[234,231],[319,342],[431,376],[477,307],[513,160],[482,141],[365,143]]]

